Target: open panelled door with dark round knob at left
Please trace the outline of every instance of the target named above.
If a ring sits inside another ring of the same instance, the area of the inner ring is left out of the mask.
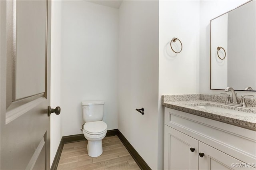
[[[0,1],[0,169],[50,169],[48,0]]]

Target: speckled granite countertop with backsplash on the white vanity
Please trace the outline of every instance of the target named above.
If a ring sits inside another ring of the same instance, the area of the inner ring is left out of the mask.
[[[162,105],[256,131],[256,99],[247,98],[248,107],[246,108],[225,105],[226,99],[227,97],[221,95],[162,95]],[[238,98],[238,102],[240,100]],[[228,109],[242,111],[242,114],[230,114],[217,111],[218,109],[209,110],[197,106],[213,106],[227,109],[227,111]]]

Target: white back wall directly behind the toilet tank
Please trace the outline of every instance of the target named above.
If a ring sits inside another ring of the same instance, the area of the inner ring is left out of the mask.
[[[81,101],[104,100],[103,121],[117,126],[118,10],[62,1],[61,107],[63,136],[82,134]]]

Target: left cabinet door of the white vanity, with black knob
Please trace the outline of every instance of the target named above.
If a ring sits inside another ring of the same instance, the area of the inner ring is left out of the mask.
[[[198,170],[198,140],[164,125],[164,169]]]

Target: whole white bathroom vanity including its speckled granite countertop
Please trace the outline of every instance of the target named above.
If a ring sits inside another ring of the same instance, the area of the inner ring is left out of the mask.
[[[255,169],[256,107],[218,95],[163,95],[164,169]],[[239,99],[238,99],[239,100]]]

